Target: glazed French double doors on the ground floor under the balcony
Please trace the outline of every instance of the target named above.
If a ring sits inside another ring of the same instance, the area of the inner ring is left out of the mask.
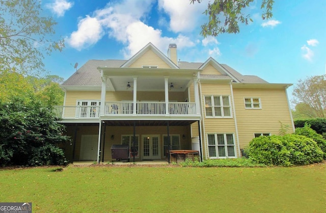
[[[160,159],[159,135],[143,135],[143,159]]]

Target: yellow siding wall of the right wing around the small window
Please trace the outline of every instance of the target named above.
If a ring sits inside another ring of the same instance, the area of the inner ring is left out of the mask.
[[[293,132],[285,89],[233,89],[233,94],[241,148],[254,133],[279,135],[281,123]],[[261,109],[245,109],[244,98],[251,97],[260,98]]]

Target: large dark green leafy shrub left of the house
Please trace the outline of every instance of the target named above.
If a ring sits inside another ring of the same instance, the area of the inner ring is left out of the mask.
[[[29,102],[20,98],[0,101],[0,128],[0,166],[67,163],[57,146],[70,140],[62,135],[65,127],[36,98]]]

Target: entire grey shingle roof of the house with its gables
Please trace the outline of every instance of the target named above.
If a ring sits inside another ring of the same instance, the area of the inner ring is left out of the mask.
[[[179,62],[178,65],[175,65],[167,56],[162,54],[152,43],[148,43],[144,48],[142,48],[137,54],[131,57],[129,60],[89,60],[82,67],[80,67],[75,73],[73,73],[63,84],[65,88],[69,87],[100,87],[101,74],[98,71],[98,67],[105,68],[120,68],[129,69],[128,66],[131,65],[134,61],[142,57],[147,50],[151,49],[160,59],[165,61],[172,69],[183,70],[194,70],[202,71],[207,65],[213,66],[221,74],[201,74],[200,78],[203,79],[230,79],[234,83],[249,83],[249,84],[266,84],[268,82],[264,81],[258,76],[254,75],[242,75],[230,66],[226,64],[220,64],[215,61],[213,58],[209,58],[204,63],[191,63],[191,62]],[[135,69],[135,68],[134,68]],[[138,68],[140,69],[140,68]],[[169,69],[169,68],[168,68]],[[168,70],[167,69],[167,70]],[[123,69],[121,69],[123,70]],[[131,69],[132,70],[132,69]],[[157,71],[157,70],[156,70]],[[177,70],[175,70],[177,71]]]

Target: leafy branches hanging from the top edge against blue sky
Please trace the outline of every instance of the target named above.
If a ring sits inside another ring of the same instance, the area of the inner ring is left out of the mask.
[[[195,2],[201,3],[202,0],[190,0],[192,4]],[[250,14],[244,11],[250,6],[254,0],[214,0],[209,1],[207,10],[204,14],[208,15],[208,21],[201,25],[200,35],[218,36],[221,33],[239,33],[239,23],[246,25],[251,21]],[[262,14],[262,19],[269,19],[273,16],[274,0],[262,0],[261,9],[265,9]],[[224,17],[224,18],[223,18]],[[224,20],[223,20],[224,19]]]

